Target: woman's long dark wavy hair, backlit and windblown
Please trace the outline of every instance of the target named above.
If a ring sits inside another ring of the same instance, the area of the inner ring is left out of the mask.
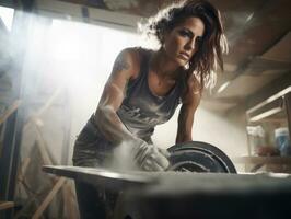
[[[205,33],[198,45],[198,50],[189,61],[186,80],[195,72],[200,79],[201,89],[203,89],[206,83],[212,80],[212,72],[217,69],[217,64],[223,70],[222,54],[228,51],[228,43],[218,9],[205,0],[174,3],[149,19],[146,33],[155,36],[162,46],[165,33],[171,32],[190,16],[201,19],[205,24]]]

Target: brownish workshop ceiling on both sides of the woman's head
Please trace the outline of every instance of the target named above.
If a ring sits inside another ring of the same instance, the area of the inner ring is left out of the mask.
[[[133,26],[170,0],[35,0],[36,9]],[[290,0],[209,0],[222,12],[230,51],[205,106],[228,112],[279,77],[291,74]],[[48,3],[50,2],[50,3]],[[68,8],[70,8],[68,10]],[[81,10],[80,10],[81,9]],[[95,10],[95,11],[94,11]],[[95,12],[95,13],[94,13]],[[222,90],[222,85],[228,87]],[[218,92],[220,91],[220,92]]]

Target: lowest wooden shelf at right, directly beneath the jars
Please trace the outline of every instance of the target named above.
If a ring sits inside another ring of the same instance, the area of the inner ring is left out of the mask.
[[[245,163],[245,164],[290,164],[291,157],[236,157],[232,159],[235,163]]]

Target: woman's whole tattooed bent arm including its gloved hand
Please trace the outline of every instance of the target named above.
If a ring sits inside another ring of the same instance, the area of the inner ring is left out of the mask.
[[[119,145],[124,140],[128,141],[127,149],[132,158],[127,159],[133,159],[142,170],[163,171],[170,164],[166,154],[135,137],[116,114],[123,103],[128,80],[137,77],[139,68],[140,59],[136,50],[125,49],[119,54],[95,112],[95,125],[113,143]]]

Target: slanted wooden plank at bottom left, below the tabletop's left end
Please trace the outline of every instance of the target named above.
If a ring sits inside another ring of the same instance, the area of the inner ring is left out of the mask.
[[[45,211],[47,206],[50,204],[53,198],[56,196],[56,194],[59,192],[59,189],[65,184],[65,182],[66,182],[65,177],[58,178],[57,183],[55,184],[53,189],[49,192],[49,194],[46,196],[44,201],[40,204],[39,208],[35,211],[35,214],[33,215],[32,219],[38,219],[38,218],[42,217],[43,212]]]

